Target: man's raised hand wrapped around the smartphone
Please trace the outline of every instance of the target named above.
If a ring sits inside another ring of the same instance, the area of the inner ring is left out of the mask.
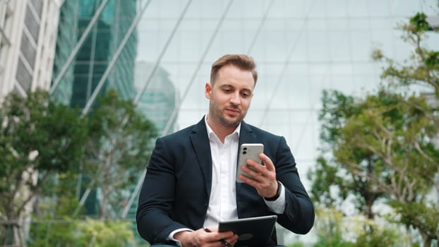
[[[265,165],[247,159],[247,165],[242,165],[241,169],[246,172],[246,176],[240,175],[239,178],[250,186],[253,186],[258,194],[263,198],[272,198],[277,192],[276,169],[271,159],[260,153],[260,160]]]

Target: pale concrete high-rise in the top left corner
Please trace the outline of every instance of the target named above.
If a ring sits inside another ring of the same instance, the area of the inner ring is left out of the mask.
[[[0,102],[11,91],[49,88],[60,4],[0,1]]]

